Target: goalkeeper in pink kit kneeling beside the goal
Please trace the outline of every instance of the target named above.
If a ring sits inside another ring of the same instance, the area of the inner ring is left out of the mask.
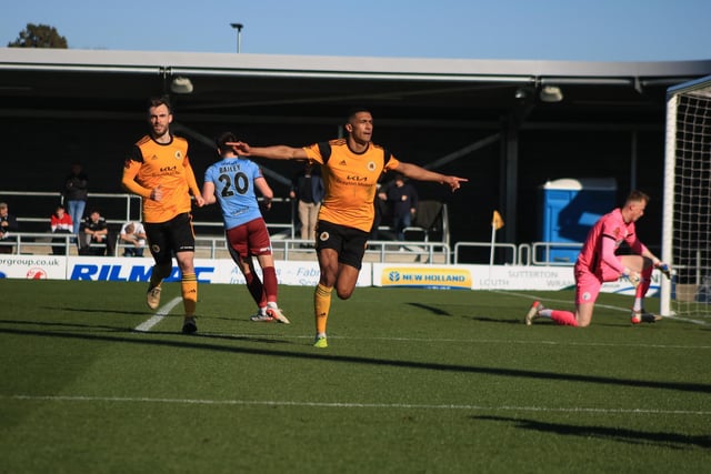
[[[635,288],[631,322],[653,323],[660,319],[645,312],[642,303],[654,268],[660,269],[668,278],[671,271],[669,265],[649,251],[634,232],[634,222],[644,215],[649,199],[641,191],[632,191],[623,206],[600,218],[588,233],[574,268],[575,312],[551,310],[534,301],[525,315],[527,325],[537,319],[550,319],[561,325],[590,325],[602,283],[613,282],[622,276]],[[622,242],[627,242],[634,254],[615,254]]]

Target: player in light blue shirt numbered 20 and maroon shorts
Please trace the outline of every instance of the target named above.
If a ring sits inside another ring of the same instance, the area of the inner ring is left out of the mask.
[[[268,209],[274,193],[257,163],[240,158],[233,147],[227,144],[236,141],[231,132],[222,133],[217,139],[221,160],[204,173],[202,199],[206,204],[219,202],[222,209],[228,250],[244,275],[249,293],[259,309],[250,320],[289,324],[277,304],[277,271],[271,240],[254,189],[264,196]],[[263,283],[254,272],[253,256],[257,256],[262,269]]]

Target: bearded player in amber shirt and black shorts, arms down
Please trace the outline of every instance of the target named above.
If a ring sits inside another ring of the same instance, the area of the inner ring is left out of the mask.
[[[194,270],[196,236],[192,230],[190,193],[198,206],[204,201],[188,158],[188,141],[170,133],[173,114],[166,98],[151,99],[148,109],[150,133],[132,148],[123,167],[123,186],[143,198],[143,224],[156,264],[148,286],[147,303],[160,305],[161,283],[172,271],[176,254],[181,271],[186,317],[182,332],[198,330],[194,321],[198,279]]]

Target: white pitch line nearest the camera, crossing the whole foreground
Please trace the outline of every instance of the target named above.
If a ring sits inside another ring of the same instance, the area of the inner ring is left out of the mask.
[[[0,395],[0,399],[50,402],[116,402],[116,403],[171,403],[182,405],[264,405],[264,406],[307,406],[326,409],[403,409],[403,410],[474,410],[510,412],[558,412],[558,413],[625,413],[648,415],[711,415],[707,410],[653,410],[653,409],[593,409],[593,407],[550,407],[550,406],[483,406],[458,404],[417,404],[417,403],[349,403],[349,402],[289,402],[269,400],[197,400],[197,399],[152,399],[130,396],[82,396],[82,395]]]

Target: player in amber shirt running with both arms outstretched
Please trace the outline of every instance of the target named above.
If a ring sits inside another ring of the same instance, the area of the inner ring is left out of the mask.
[[[373,224],[377,184],[380,174],[397,171],[420,181],[433,181],[458,190],[468,180],[428,171],[417,164],[397,160],[382,147],[371,142],[373,118],[365,109],[354,109],[346,123],[348,137],[304,148],[287,145],[250,147],[233,144],[242,155],[273,160],[308,160],[321,165],[326,198],[317,223],[317,253],[321,275],[313,297],[316,347],[327,347],[326,323],[331,306],[331,291],[349,299],[361,269],[365,244]]]

